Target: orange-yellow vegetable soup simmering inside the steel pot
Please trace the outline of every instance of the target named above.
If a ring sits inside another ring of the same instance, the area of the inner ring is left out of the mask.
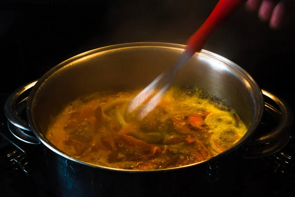
[[[125,110],[140,91],[76,99],[53,119],[46,137],[89,164],[154,170],[207,160],[232,147],[247,131],[224,101],[198,88],[170,88],[138,121]]]

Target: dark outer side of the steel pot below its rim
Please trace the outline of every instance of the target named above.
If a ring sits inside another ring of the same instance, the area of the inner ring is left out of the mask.
[[[219,161],[173,171],[122,172],[89,167],[48,148],[45,151],[49,183],[58,197],[189,197],[196,194],[213,197],[235,192],[226,191],[227,186],[234,185],[234,160],[227,162],[226,168],[220,166],[222,161]],[[233,157],[234,154],[230,154],[224,159]]]

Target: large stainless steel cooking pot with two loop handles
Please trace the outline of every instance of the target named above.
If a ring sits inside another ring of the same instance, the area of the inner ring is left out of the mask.
[[[278,96],[261,90],[240,66],[212,52],[195,54],[179,71],[174,83],[196,86],[224,99],[248,126],[245,135],[230,149],[206,161],[170,169],[132,171],[88,164],[55,147],[46,137],[50,121],[71,100],[97,91],[144,88],[162,71],[172,66],[184,45],[141,42],[94,49],[53,67],[39,80],[17,89],[7,99],[4,112],[9,130],[20,140],[43,144],[50,176],[60,196],[174,196],[175,183],[183,186],[185,174],[199,176],[212,169],[214,162],[236,152],[244,158],[264,157],[282,149],[290,139],[293,113]],[[32,88],[29,97],[19,97]],[[274,106],[266,104],[271,99]],[[26,108],[28,121],[20,117]],[[276,108],[280,113],[277,127],[259,133],[264,110]],[[210,174],[210,173],[209,173]],[[118,178],[119,177],[119,178]],[[186,178],[187,179],[187,178]],[[163,188],[165,182],[165,188]],[[167,187],[166,187],[167,186]],[[170,187],[174,187],[171,189]],[[162,188],[161,188],[162,187]],[[122,192],[124,191],[124,192]],[[112,195],[111,195],[112,194]],[[184,193],[182,194],[184,195]]]

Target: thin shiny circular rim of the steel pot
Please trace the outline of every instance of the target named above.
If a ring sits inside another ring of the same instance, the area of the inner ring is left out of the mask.
[[[254,120],[254,124],[251,124],[248,128],[248,131],[243,135],[243,137],[236,142],[236,144],[234,146],[232,146],[231,148],[229,148],[228,150],[214,156],[211,157],[207,160],[195,163],[195,164],[189,164],[189,165],[183,165],[183,166],[179,166],[179,167],[174,167],[174,168],[165,168],[165,169],[156,169],[156,170],[129,170],[129,169],[118,169],[118,168],[112,168],[112,167],[106,167],[106,166],[100,166],[100,165],[96,165],[96,164],[89,164],[86,162],[83,162],[79,159],[76,159],[64,152],[62,152],[61,150],[59,150],[56,146],[54,146],[43,134],[41,134],[41,132],[38,131],[38,128],[35,126],[34,124],[34,120],[32,118],[32,114],[31,114],[31,106],[33,104],[33,99],[35,97],[35,94],[37,92],[37,90],[39,88],[41,88],[46,82],[46,79],[54,74],[57,70],[59,70],[61,67],[69,65],[70,63],[77,61],[79,59],[85,60],[87,59],[88,56],[90,56],[91,54],[96,54],[96,53],[100,53],[100,52],[106,52],[106,51],[110,51],[110,50],[121,50],[124,48],[138,48],[138,47],[161,47],[161,48],[174,48],[177,50],[184,50],[185,49],[185,45],[182,44],[175,44],[175,43],[166,43],[166,42],[131,42],[131,43],[123,43],[123,44],[116,44],[116,45],[110,45],[110,46],[105,46],[105,47],[100,47],[97,49],[93,49],[93,50],[89,50],[87,52],[78,54],[72,58],[69,58],[63,62],[61,62],[59,65],[54,66],[53,68],[51,68],[49,71],[47,71],[38,81],[37,83],[34,85],[34,87],[32,88],[30,94],[29,94],[29,99],[28,99],[28,105],[27,105],[27,117],[29,120],[29,126],[32,129],[33,133],[37,136],[37,138],[47,147],[49,148],[51,151],[57,153],[59,156],[68,159],[70,161],[79,163],[79,164],[83,164],[89,167],[94,167],[94,168],[101,168],[101,169],[106,169],[106,170],[112,170],[112,171],[122,171],[122,172],[133,172],[133,173],[140,173],[140,172],[158,172],[158,171],[171,171],[171,170],[176,170],[176,169],[182,169],[182,168],[187,168],[187,167],[191,167],[191,166],[195,166],[195,165],[200,165],[200,164],[206,164],[208,162],[212,162],[215,161],[218,158],[224,157],[227,154],[235,151],[237,148],[239,148],[242,144],[244,144],[247,139],[249,139],[249,137],[252,136],[252,134],[254,133],[254,131],[256,130],[256,128],[258,127],[258,125],[260,124],[260,121],[262,119],[263,116],[263,112],[264,112],[264,99],[263,99],[263,94],[262,94],[262,90],[260,89],[260,87],[258,86],[258,84],[256,83],[256,81],[252,78],[252,76],[245,71],[242,67],[238,66],[237,64],[235,64],[234,62],[230,61],[227,58],[224,58],[218,54],[215,54],[213,52],[207,51],[202,49],[201,52],[196,53],[196,54],[203,54],[206,56],[209,56],[210,58],[214,58],[218,61],[222,61],[224,63],[226,63],[229,66],[232,66],[233,68],[237,69],[245,78],[247,78],[249,80],[249,82],[251,83],[251,85],[255,88],[256,91],[256,99],[257,99],[257,107],[258,107],[258,113],[255,116],[255,120]]]

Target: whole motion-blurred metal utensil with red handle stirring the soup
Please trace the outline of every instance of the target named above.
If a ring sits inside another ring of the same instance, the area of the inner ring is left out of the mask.
[[[202,50],[205,42],[215,28],[226,19],[237,7],[242,0],[219,0],[213,11],[203,23],[203,25],[188,39],[185,51],[181,54],[177,63],[160,74],[153,80],[142,92],[132,99],[128,106],[127,112],[132,113],[138,110],[137,118],[142,120],[151,110],[160,102],[162,95],[169,89],[177,71],[196,53]],[[156,90],[160,91],[152,97],[146,105],[139,109]]]

